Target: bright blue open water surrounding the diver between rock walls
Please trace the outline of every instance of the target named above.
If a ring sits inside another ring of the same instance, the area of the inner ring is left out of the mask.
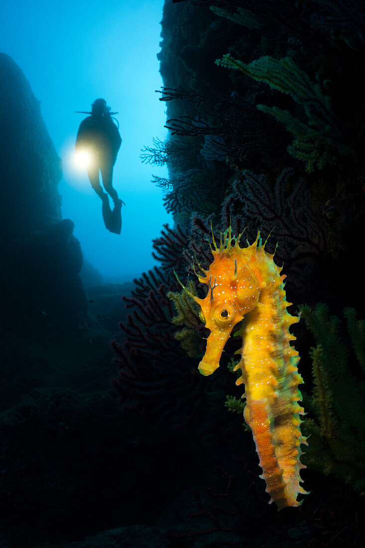
[[[62,216],[75,222],[85,258],[110,281],[140,275],[154,264],[151,239],[172,218],[151,175],[166,168],[142,164],[140,149],[166,138],[158,60],[163,0],[5,0],[0,51],[25,73],[41,101],[64,178]],[[105,229],[101,201],[85,172],[71,161],[78,125],[92,101],[105,98],[117,115],[123,142],[114,186],[126,202],[121,235]]]

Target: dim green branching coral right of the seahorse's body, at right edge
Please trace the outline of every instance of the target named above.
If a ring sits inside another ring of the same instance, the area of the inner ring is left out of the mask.
[[[351,349],[340,335],[340,319],[330,316],[326,305],[300,309],[317,344],[311,353],[314,389],[304,398],[313,417],[303,425],[305,435],[311,436],[305,464],[363,492],[365,383],[359,378],[364,373],[365,321],[357,320],[355,310],[345,310]]]

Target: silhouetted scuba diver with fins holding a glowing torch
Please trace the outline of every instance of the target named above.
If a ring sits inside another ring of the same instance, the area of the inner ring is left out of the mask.
[[[91,115],[85,118],[78,128],[75,148],[76,152],[87,152],[89,155],[88,178],[96,194],[102,200],[102,216],[106,228],[110,232],[120,234],[122,229],[121,208],[124,202],[118,198],[117,191],[113,188],[113,167],[122,139],[111,116],[117,112],[110,112],[110,107],[106,106],[104,99],[96,99],[92,104],[91,112],[75,112]],[[107,193],[100,185],[99,170],[102,184]],[[109,206],[108,194],[114,202],[113,210]]]

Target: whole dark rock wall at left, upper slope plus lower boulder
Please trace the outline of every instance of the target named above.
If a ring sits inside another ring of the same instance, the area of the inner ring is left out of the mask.
[[[61,161],[26,77],[0,54],[0,273],[3,321],[84,324],[87,298],[73,222],[61,220]],[[42,318],[43,316],[43,318]]]

